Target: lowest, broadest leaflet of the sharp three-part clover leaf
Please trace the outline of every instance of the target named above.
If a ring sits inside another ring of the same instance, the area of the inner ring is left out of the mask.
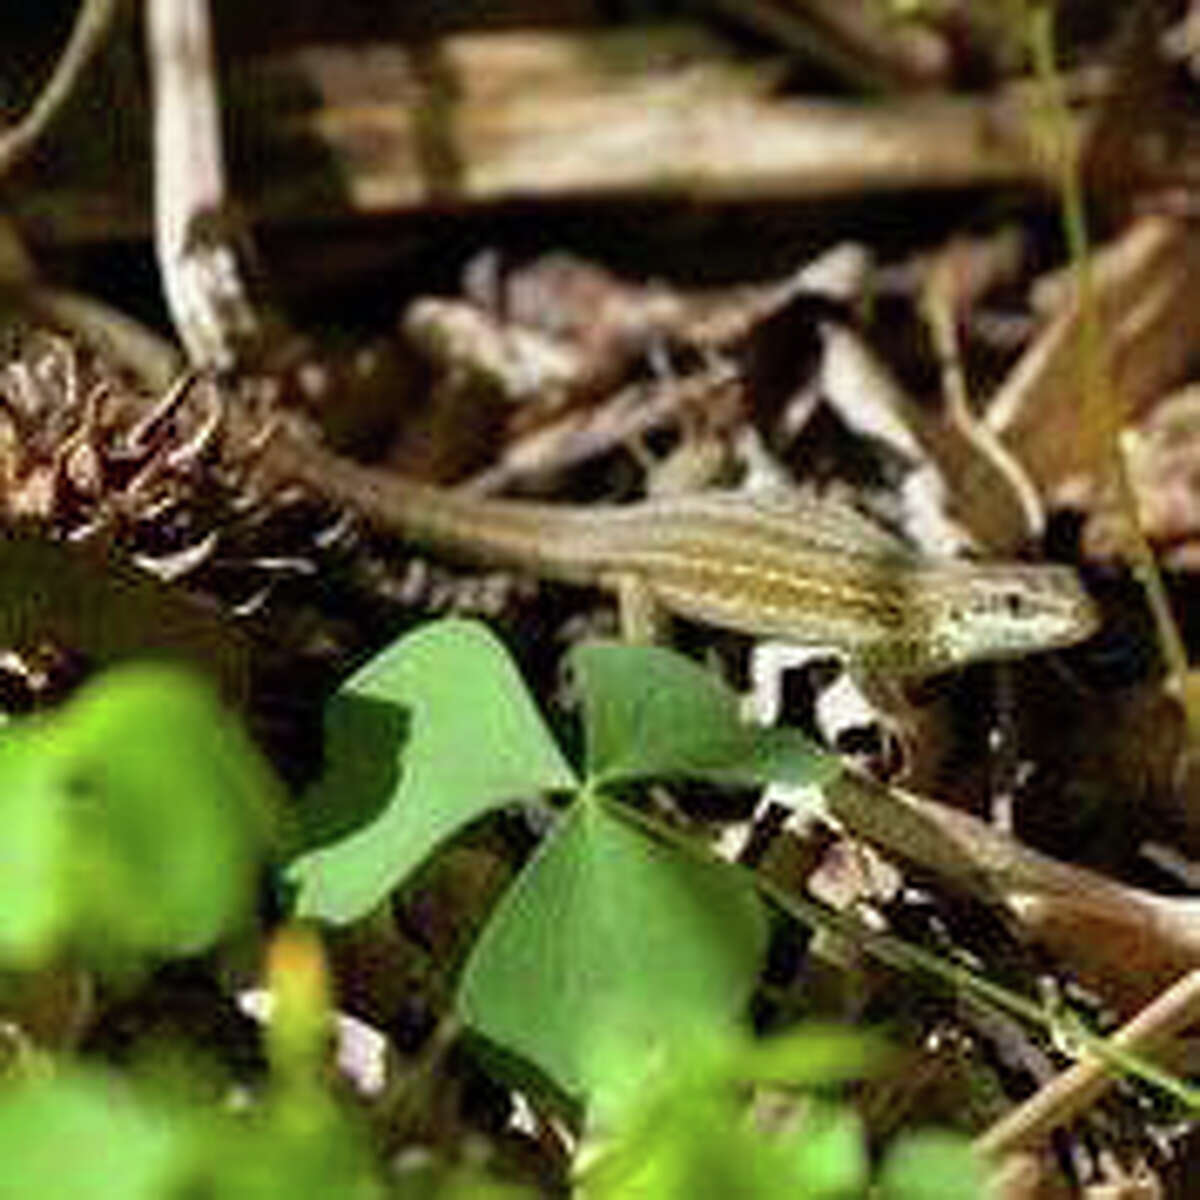
[[[581,799],[509,889],[467,962],[458,1009],[486,1038],[595,1100],[662,1039],[727,1026],[766,944],[752,886]]]

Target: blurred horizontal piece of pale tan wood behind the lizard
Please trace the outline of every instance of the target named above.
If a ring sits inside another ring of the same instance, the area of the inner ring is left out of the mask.
[[[686,26],[312,46],[222,72],[233,186],[256,221],[530,198],[750,202],[1044,186],[1049,178],[1016,92],[776,98],[769,67],[732,62]],[[121,96],[126,112],[145,103],[138,86],[131,79]],[[140,236],[144,197],[122,178],[134,174],[68,176],[46,188],[35,179],[11,211],[38,244]]]

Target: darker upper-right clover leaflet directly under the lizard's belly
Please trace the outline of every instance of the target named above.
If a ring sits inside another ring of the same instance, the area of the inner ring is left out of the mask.
[[[589,643],[571,662],[593,784],[679,776],[810,784],[838,769],[836,758],[797,730],[744,722],[730,689],[671,650]]]

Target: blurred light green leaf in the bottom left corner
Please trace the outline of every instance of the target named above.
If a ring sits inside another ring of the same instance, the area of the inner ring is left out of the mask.
[[[172,1122],[115,1079],[61,1074],[0,1091],[0,1196],[161,1200],[179,1151]]]

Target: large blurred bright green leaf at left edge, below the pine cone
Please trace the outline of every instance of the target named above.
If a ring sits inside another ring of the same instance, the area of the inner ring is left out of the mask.
[[[274,782],[198,677],[101,676],[0,734],[0,955],[113,966],[210,946],[248,913]]]

